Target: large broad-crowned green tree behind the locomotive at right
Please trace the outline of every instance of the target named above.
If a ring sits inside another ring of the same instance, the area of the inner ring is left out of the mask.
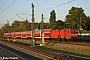
[[[67,28],[84,28],[86,29],[86,15],[82,8],[72,7],[69,10],[69,14],[66,15],[66,27]]]

